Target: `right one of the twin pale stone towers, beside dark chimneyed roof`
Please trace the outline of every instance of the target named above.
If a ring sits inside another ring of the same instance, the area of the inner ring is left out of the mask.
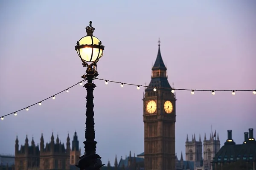
[[[212,159],[215,156],[215,152],[218,153],[218,151],[221,148],[218,134],[217,134],[217,139],[215,136],[216,136],[216,132],[215,132],[215,135],[211,133],[209,140],[207,140],[206,134],[204,134],[204,167],[207,170],[212,169],[212,166],[211,166]],[[215,149],[215,146],[216,146],[216,149]]]

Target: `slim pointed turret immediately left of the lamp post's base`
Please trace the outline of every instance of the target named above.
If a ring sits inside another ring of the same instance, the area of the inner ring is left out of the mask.
[[[70,164],[78,164],[79,157],[81,156],[81,148],[79,148],[79,141],[75,132],[72,141],[72,149],[70,150]]]

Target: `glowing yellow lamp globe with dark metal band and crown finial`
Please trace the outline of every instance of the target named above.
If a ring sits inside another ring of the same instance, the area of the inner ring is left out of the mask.
[[[98,62],[103,56],[104,46],[98,38],[93,36],[94,29],[90,21],[90,25],[86,27],[87,36],[76,43],[75,50],[82,62]]]

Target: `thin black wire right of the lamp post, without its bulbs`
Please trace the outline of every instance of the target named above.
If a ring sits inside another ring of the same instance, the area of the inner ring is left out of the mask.
[[[107,81],[107,82],[113,82],[113,83],[120,83],[120,84],[123,84],[123,85],[136,85],[136,84],[125,83],[125,82],[116,82],[116,81],[106,80],[106,79],[99,79],[99,78],[95,78],[95,79],[103,80],[103,81]],[[136,86],[146,87],[146,88],[182,90],[182,91],[234,91],[234,92],[235,91],[256,91],[256,90],[200,90],[200,89],[186,89],[186,88],[163,88],[163,87],[153,87],[153,86],[147,86],[147,85],[136,85]]]

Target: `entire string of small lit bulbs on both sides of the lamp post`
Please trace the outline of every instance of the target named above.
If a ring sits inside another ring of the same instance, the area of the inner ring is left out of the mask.
[[[215,95],[215,91],[229,91],[229,92],[231,92],[232,95],[235,95],[235,94],[236,94],[236,91],[252,91],[254,95],[256,94],[256,90],[201,90],[201,89],[186,89],[186,88],[163,88],[163,87],[153,87],[153,86],[148,86],[148,85],[137,85],[137,84],[131,84],[131,83],[125,83],[125,82],[116,82],[116,81],[107,80],[107,79],[99,79],[99,78],[95,78],[95,79],[105,81],[105,84],[106,84],[106,85],[108,85],[108,82],[119,83],[120,86],[121,86],[121,88],[123,88],[124,85],[133,85],[133,86],[137,86],[137,89],[138,89],[138,90],[140,90],[140,87],[145,87],[145,88],[153,88],[153,91],[157,91],[157,89],[168,89],[168,90],[170,90],[172,93],[175,93],[175,91],[191,91],[191,92],[190,92],[191,94],[195,94],[195,91],[209,91],[209,92],[212,92],[212,95]],[[32,107],[32,106],[34,106],[34,105],[37,105],[37,104],[38,104],[38,105],[42,105],[42,102],[44,102],[45,100],[50,99],[50,98],[55,99],[55,96],[56,96],[56,95],[61,94],[61,93],[64,92],[64,91],[66,91],[66,92],[68,93],[70,88],[73,88],[74,86],[76,86],[76,85],[78,85],[78,84],[79,84],[79,85],[83,85],[82,82],[84,82],[84,81],[85,81],[85,79],[82,80],[82,81],[80,81],[80,82],[78,82],[78,83],[76,83],[76,84],[74,84],[74,85],[72,85],[72,86],[70,86],[69,88],[66,88],[66,89],[63,90],[63,91],[58,92],[57,94],[54,94],[54,95],[52,95],[52,96],[50,96],[50,97],[47,97],[46,99],[41,100],[40,102],[36,102],[36,103],[34,103],[34,104],[32,104],[32,105],[29,105],[29,106],[27,106],[27,107],[25,107],[25,108],[22,108],[22,109],[18,110],[18,111],[15,111],[15,112],[6,114],[6,115],[4,115],[4,116],[0,116],[0,117],[1,117],[1,120],[3,120],[5,116],[9,116],[9,115],[12,115],[12,114],[14,114],[15,116],[17,116],[17,112],[23,111],[23,110],[25,110],[25,109],[26,109],[26,111],[29,111],[29,108],[30,108],[30,107]]]

